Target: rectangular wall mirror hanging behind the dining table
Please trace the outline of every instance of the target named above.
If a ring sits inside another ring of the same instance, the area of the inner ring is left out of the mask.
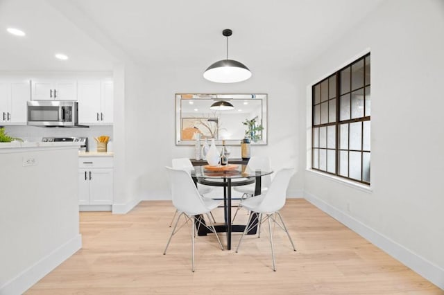
[[[221,101],[233,107],[210,109]],[[176,93],[176,145],[194,145],[196,133],[203,140],[214,138],[217,144],[225,140],[226,145],[240,145],[248,130],[247,120],[255,125],[251,144],[266,145],[266,94]]]

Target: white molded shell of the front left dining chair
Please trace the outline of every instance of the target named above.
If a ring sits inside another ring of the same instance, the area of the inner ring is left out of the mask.
[[[187,215],[199,215],[210,212],[194,185],[193,179],[185,170],[167,167],[173,205]]]

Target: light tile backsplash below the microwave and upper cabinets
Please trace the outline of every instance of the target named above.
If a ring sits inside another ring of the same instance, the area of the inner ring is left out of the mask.
[[[88,150],[96,150],[94,136],[110,136],[108,152],[112,152],[112,125],[92,125],[89,128],[47,128],[28,125],[6,125],[6,133],[12,137],[22,138],[24,141],[42,141],[42,137],[71,137],[87,136]]]

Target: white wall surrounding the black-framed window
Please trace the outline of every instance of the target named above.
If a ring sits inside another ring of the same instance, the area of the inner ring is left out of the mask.
[[[442,36],[443,1],[386,1],[307,66],[309,109],[309,86],[370,48],[372,191],[309,171],[304,189],[311,202],[444,288]]]

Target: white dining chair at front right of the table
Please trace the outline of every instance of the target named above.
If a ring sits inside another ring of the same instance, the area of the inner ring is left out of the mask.
[[[279,212],[285,204],[287,188],[289,186],[289,181],[291,176],[293,175],[293,172],[294,168],[284,168],[279,170],[278,172],[276,172],[276,175],[266,193],[255,197],[250,197],[249,199],[245,199],[244,202],[241,203],[241,206],[246,208],[248,211],[259,213],[259,224],[257,231],[258,236],[260,236],[261,224],[268,220],[268,233],[270,236],[273,271],[276,271],[276,267],[271,221],[273,221],[275,224],[278,224],[278,226],[283,229],[285,233],[287,233],[287,236],[289,237],[289,240],[291,242],[291,246],[293,247],[293,250],[296,251],[296,247],[294,247],[293,240],[291,240],[287,226],[285,226],[282,215],[280,215]],[[263,215],[265,215],[265,217]],[[244,235],[248,231],[250,231],[253,226],[255,226],[255,224],[250,224],[253,216],[254,214],[250,214],[250,217],[248,218],[247,226],[245,226],[245,231],[244,233],[242,233],[239,244],[237,244],[236,253],[237,251],[239,251],[239,247],[241,246]],[[279,220],[277,220],[276,217],[279,217]],[[248,226],[248,224],[250,224],[250,226]]]

